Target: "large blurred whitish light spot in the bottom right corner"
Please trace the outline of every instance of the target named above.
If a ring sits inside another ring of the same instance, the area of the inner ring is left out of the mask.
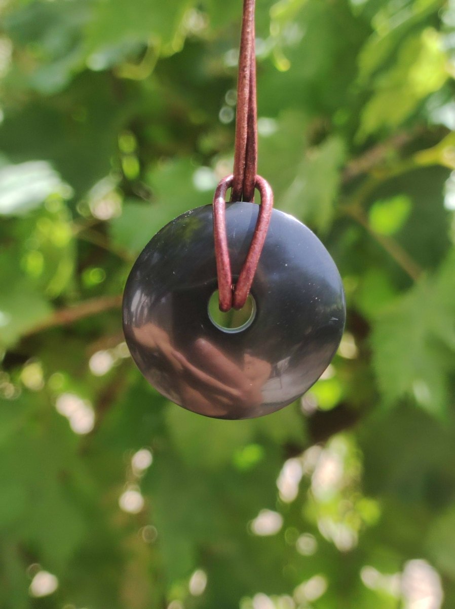
[[[410,560],[401,576],[404,609],[440,609],[444,594],[439,573],[425,560]]]

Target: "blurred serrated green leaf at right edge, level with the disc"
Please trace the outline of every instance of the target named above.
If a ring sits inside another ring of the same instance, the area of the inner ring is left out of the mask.
[[[423,278],[373,325],[373,365],[386,403],[404,396],[434,415],[448,406],[448,360],[455,350],[454,253],[434,277]],[[451,273],[451,274],[450,274]]]

